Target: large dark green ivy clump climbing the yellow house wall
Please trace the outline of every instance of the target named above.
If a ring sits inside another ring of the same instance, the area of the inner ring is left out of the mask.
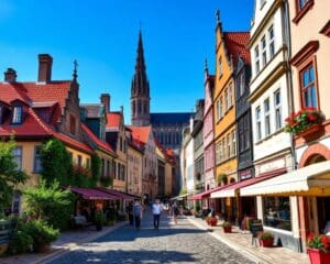
[[[59,140],[52,139],[42,145],[41,161],[42,176],[47,185],[55,179],[61,185],[68,185],[68,175],[72,174],[72,161],[69,153]]]

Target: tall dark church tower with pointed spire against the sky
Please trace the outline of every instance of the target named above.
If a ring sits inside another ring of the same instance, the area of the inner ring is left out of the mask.
[[[136,127],[150,124],[150,88],[145,70],[141,31],[139,32],[138,57],[131,87],[131,123]]]

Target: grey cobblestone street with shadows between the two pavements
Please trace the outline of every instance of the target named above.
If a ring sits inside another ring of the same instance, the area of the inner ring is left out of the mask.
[[[161,227],[152,227],[152,216],[146,213],[140,231],[128,226],[108,233],[94,242],[85,243],[73,251],[53,258],[48,264],[70,263],[254,263],[207,231],[199,230],[186,219],[173,224],[162,216]]]

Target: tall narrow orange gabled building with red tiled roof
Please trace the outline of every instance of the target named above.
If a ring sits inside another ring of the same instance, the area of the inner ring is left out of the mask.
[[[216,77],[213,92],[216,182],[217,185],[238,182],[234,69],[239,56],[249,56],[249,32],[223,32],[219,11],[216,29]],[[221,211],[235,215],[231,198],[222,200]]]

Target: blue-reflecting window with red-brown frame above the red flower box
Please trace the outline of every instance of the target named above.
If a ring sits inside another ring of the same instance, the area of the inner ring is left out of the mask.
[[[300,72],[300,87],[304,107],[318,108],[315,67],[312,64],[309,64]]]

